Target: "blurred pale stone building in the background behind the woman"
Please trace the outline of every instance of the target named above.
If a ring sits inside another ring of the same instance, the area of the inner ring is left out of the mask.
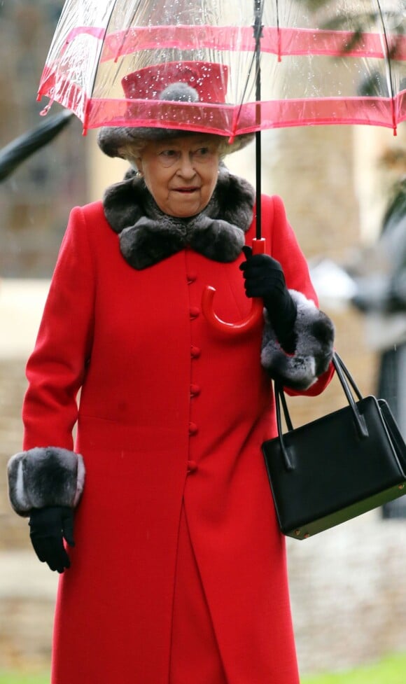
[[[39,121],[46,103],[36,102],[36,88],[61,9],[60,0],[0,1],[0,146]],[[283,197],[311,264],[346,263],[374,243],[390,188],[405,172],[398,162],[405,148],[405,124],[397,138],[390,130],[344,126],[263,134],[263,191]],[[253,181],[253,149],[229,165]],[[6,462],[21,448],[25,361],[69,210],[101,197],[125,169],[103,157],[94,132],[83,137],[80,122],[71,120],[0,183],[0,670],[48,667],[57,581],[34,556],[27,521],[10,510],[6,492]],[[372,393],[379,354],[368,344],[363,314],[339,288],[332,297],[323,292],[337,349],[363,393]],[[296,425],[342,405],[335,382],[321,397],[290,402]],[[405,540],[406,521],[383,519],[380,510],[302,543],[288,540],[303,672],[405,649]]]

